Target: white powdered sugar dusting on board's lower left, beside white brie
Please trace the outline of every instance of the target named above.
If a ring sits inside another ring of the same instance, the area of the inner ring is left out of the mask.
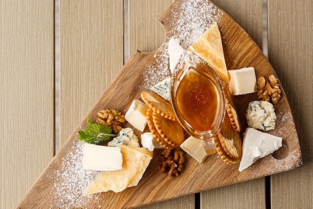
[[[98,195],[82,196],[83,189],[97,176],[98,172],[82,169],[83,141],[75,140],[68,152],[61,158],[61,169],[55,171],[50,208],[83,207]]]

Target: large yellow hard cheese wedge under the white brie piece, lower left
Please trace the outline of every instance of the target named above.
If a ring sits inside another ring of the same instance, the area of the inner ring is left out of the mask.
[[[127,187],[135,186],[141,179],[152,159],[153,152],[144,147],[118,145],[123,156],[122,169],[102,171],[84,189],[83,195],[112,190],[120,192]]]

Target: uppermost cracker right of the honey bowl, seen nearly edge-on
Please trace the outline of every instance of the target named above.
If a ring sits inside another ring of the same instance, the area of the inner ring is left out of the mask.
[[[232,99],[232,96],[228,88],[224,88],[224,96],[225,96],[226,113],[229,117],[231,126],[237,133],[239,133],[240,123],[238,119],[238,114],[237,114],[236,106],[234,104],[234,101]]]

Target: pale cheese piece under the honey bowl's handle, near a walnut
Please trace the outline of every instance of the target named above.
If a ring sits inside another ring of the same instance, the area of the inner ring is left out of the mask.
[[[212,149],[215,149],[214,142],[209,144],[211,145]],[[199,163],[204,162],[204,160],[209,155],[205,153],[202,140],[193,136],[190,136],[184,140],[184,142],[180,144],[180,147]]]

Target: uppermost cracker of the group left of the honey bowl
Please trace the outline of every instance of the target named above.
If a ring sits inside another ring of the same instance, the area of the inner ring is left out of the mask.
[[[177,120],[171,104],[163,97],[154,92],[147,91],[141,92],[140,96],[143,102],[156,113],[169,120]]]

